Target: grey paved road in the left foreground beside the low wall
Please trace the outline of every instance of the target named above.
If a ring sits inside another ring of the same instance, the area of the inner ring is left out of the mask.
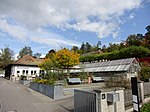
[[[73,112],[73,97],[53,100],[19,83],[0,78],[2,112]]]

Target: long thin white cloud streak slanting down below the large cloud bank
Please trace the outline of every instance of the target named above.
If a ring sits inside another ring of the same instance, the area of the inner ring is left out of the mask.
[[[80,44],[76,41],[72,41],[69,39],[66,39],[58,34],[55,34],[53,32],[46,32],[43,29],[34,29],[34,30],[28,30],[26,27],[23,27],[21,25],[13,25],[9,24],[6,19],[0,19],[0,30],[2,32],[7,33],[8,35],[17,38],[19,40],[23,41],[33,41],[40,44],[46,44],[51,47],[61,47],[61,45],[66,46],[79,46]]]

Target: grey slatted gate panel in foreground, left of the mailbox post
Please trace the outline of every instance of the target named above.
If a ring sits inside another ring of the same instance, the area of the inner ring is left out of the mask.
[[[74,91],[74,112],[96,112],[96,94],[88,91]]]

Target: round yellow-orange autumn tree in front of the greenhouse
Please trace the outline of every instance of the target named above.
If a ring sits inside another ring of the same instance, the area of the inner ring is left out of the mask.
[[[67,69],[69,74],[69,68],[79,64],[79,54],[64,48],[56,52],[55,62],[58,68]]]

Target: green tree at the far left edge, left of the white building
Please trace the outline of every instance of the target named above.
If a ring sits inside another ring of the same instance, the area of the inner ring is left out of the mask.
[[[5,68],[7,65],[13,62],[14,52],[9,48],[6,47],[1,49],[0,52],[0,68]]]

